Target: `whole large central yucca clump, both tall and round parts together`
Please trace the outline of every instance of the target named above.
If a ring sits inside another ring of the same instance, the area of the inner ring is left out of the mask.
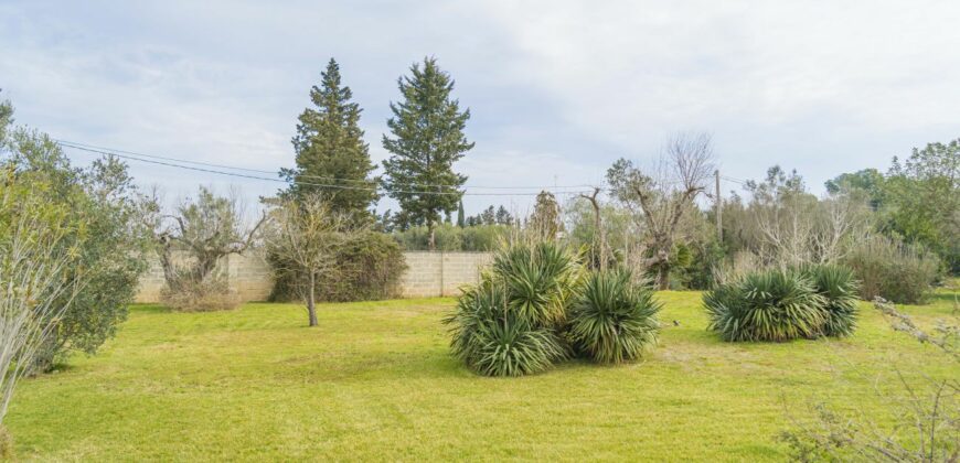
[[[444,323],[454,355],[487,376],[540,373],[574,349],[605,364],[657,344],[653,291],[629,271],[586,277],[582,256],[553,241],[509,244]]]

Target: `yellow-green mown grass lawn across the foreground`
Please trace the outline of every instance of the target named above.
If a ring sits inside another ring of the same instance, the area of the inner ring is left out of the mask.
[[[451,299],[322,305],[318,329],[289,304],[136,306],[99,355],[22,381],[7,426],[38,460],[765,461],[786,456],[785,410],[877,412],[893,365],[958,374],[867,304],[849,340],[728,344],[700,293],[659,298],[647,360],[503,379],[449,356]],[[927,324],[951,310],[949,294],[905,309]]]

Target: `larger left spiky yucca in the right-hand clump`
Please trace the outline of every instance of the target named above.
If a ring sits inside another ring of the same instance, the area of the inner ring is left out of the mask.
[[[789,341],[821,334],[825,300],[796,270],[748,273],[703,298],[708,329],[725,341]]]

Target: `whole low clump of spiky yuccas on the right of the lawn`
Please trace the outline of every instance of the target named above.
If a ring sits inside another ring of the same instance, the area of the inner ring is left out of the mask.
[[[846,336],[856,326],[853,272],[833,265],[748,273],[703,301],[708,329],[725,341]]]

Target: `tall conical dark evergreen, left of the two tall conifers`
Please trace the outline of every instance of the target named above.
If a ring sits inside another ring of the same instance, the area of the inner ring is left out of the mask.
[[[340,66],[330,58],[320,86],[310,89],[313,107],[299,117],[292,139],[297,168],[280,170],[292,182],[281,196],[321,193],[334,212],[370,214],[378,198],[377,179],[369,176],[374,165],[359,126],[362,109],[352,97],[350,87],[340,84]]]

